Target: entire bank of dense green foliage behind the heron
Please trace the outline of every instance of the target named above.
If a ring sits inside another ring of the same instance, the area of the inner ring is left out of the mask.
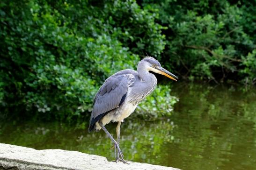
[[[2,0],[0,116],[87,116],[105,78],[146,53],[180,79],[254,85],[255,32],[256,1]],[[169,115],[169,92],[138,115]]]

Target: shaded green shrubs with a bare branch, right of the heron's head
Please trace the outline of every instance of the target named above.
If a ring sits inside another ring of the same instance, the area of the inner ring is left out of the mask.
[[[217,82],[245,77],[244,83],[256,83],[251,73],[256,67],[248,64],[256,58],[247,59],[256,48],[255,1],[144,0],[143,6],[158,11],[158,22],[168,27],[161,59],[169,69],[190,79]],[[249,72],[240,74],[241,70]]]

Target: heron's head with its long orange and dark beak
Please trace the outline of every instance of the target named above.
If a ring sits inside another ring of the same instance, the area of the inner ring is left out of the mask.
[[[164,69],[159,63],[159,61],[157,61],[153,57],[145,57],[144,59],[141,60],[141,62],[145,62],[147,71],[153,71],[155,73],[162,74],[175,81],[177,81],[178,79],[177,76],[175,76],[173,73]]]

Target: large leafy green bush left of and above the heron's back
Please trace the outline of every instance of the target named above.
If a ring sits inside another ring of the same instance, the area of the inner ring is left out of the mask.
[[[22,9],[22,10],[21,10]],[[155,14],[135,1],[0,2],[0,103],[7,113],[89,115],[104,80],[164,48]]]

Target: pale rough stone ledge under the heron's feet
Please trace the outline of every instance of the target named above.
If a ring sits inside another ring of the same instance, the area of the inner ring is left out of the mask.
[[[0,143],[0,170],[179,170],[147,163],[109,162],[105,157],[61,149],[36,150]]]

